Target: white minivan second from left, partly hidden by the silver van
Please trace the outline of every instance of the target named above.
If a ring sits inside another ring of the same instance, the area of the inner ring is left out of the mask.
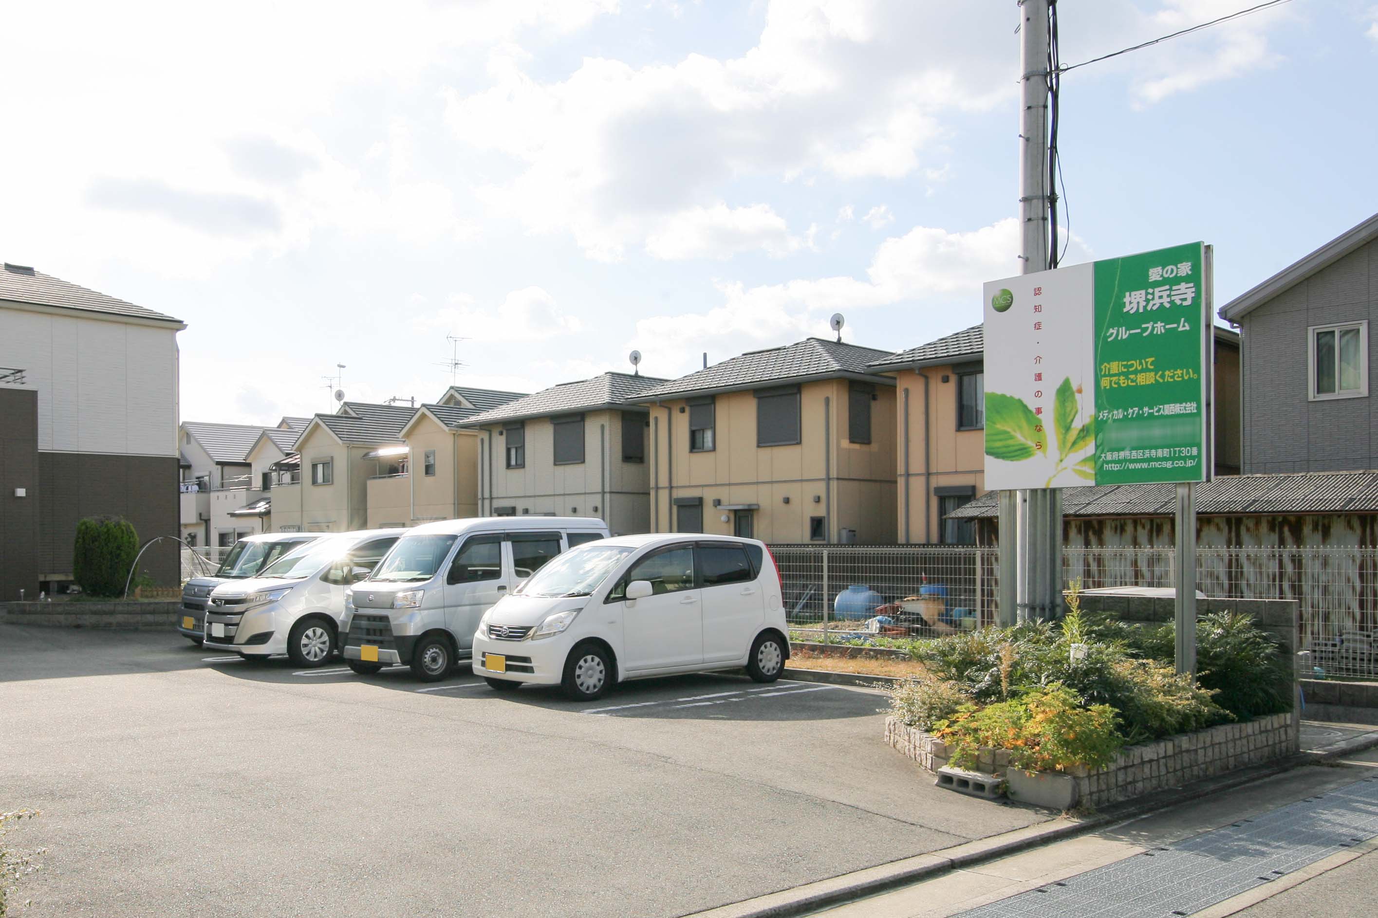
[[[287,653],[296,666],[324,666],[339,648],[344,590],[364,579],[407,529],[322,535],[282,555],[256,578],[211,591],[204,646],[245,660]]]

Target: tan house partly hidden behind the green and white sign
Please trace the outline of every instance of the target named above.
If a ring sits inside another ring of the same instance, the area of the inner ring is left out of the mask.
[[[1237,474],[1239,335],[1214,331],[1215,474]],[[976,542],[974,521],[948,514],[985,491],[984,353],[981,325],[973,325],[870,364],[896,383],[900,542]]]

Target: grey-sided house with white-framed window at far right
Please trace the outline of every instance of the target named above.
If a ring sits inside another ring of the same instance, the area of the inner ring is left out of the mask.
[[[1370,397],[1378,214],[1236,296],[1220,317],[1243,350],[1243,470],[1378,469]]]

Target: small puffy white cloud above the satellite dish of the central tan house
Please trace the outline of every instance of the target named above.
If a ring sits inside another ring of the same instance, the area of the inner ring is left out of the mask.
[[[729,208],[721,201],[675,214],[646,238],[646,252],[666,261],[730,258],[752,251],[780,258],[805,245],[769,204]]]

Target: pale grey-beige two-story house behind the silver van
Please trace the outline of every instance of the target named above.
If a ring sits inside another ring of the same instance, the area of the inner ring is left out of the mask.
[[[648,409],[664,379],[606,372],[470,418],[481,516],[598,517],[613,533],[650,531]]]

